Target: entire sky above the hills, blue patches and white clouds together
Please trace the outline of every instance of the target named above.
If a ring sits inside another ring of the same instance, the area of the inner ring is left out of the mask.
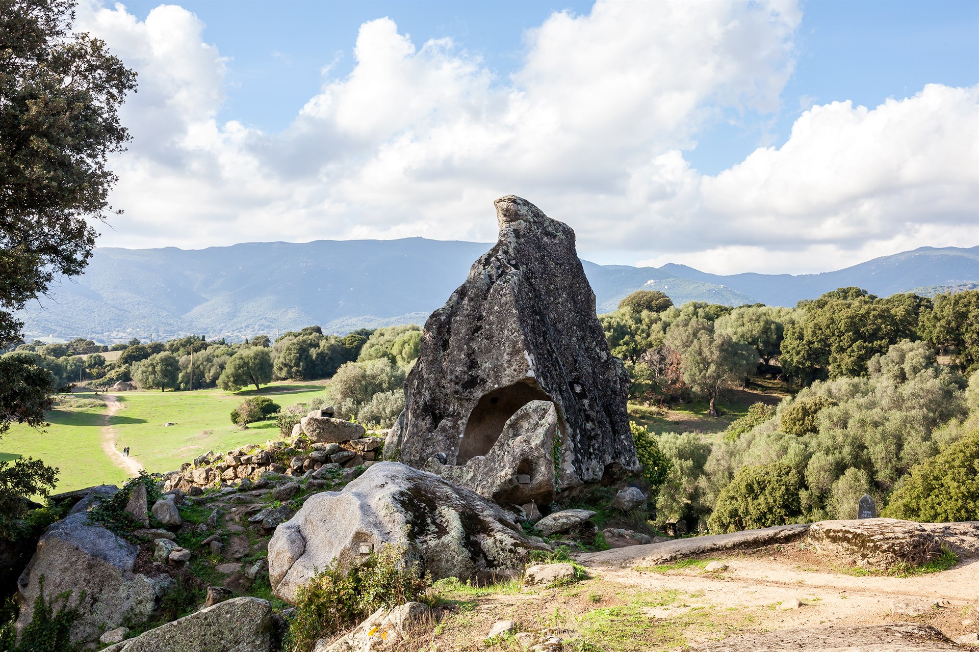
[[[605,263],[979,241],[979,2],[123,4],[79,12],[141,82],[104,244],[485,240],[509,192]]]

